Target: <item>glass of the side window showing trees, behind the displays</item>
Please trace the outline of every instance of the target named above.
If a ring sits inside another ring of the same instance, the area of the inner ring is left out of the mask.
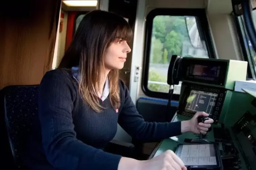
[[[153,19],[148,89],[168,93],[168,66],[172,55],[209,58],[205,42],[201,41],[195,17],[158,15]],[[188,36],[188,34],[190,36]],[[191,40],[189,39],[191,37]],[[192,42],[192,44],[191,44]],[[180,94],[181,82],[174,86],[174,94]]]

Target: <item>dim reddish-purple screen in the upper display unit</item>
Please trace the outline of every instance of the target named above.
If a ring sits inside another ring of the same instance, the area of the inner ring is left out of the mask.
[[[193,76],[215,78],[216,73],[217,73],[217,66],[205,66],[205,65],[195,64],[192,70]]]

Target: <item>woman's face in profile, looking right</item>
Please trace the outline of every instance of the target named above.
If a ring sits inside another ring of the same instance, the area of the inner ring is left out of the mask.
[[[131,48],[127,42],[122,39],[116,39],[106,50],[104,56],[105,69],[122,69],[129,52],[131,52]]]

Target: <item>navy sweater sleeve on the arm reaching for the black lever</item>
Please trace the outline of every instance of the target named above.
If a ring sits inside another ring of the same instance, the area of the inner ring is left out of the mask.
[[[121,103],[120,115],[118,118],[119,125],[132,137],[139,140],[159,140],[168,137],[177,136],[181,133],[181,122],[146,122],[138,113],[129,93],[129,90],[121,82],[120,90],[123,90],[124,97]],[[157,113],[156,113],[157,114]]]

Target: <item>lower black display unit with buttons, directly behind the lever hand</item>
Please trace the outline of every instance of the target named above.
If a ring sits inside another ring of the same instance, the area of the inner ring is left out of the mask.
[[[196,112],[203,111],[218,123],[227,90],[192,83],[183,83],[183,87],[177,114],[192,118]]]

